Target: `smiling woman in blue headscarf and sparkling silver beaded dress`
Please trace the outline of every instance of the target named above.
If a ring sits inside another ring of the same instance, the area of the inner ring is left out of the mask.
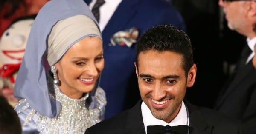
[[[51,0],[32,25],[15,82],[23,134],[83,134],[103,120],[102,35],[82,0]]]

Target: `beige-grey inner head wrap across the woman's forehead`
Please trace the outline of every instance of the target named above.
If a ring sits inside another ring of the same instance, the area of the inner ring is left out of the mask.
[[[76,15],[58,21],[48,37],[47,61],[49,65],[53,66],[76,41],[88,36],[101,38],[97,25],[89,17]]]

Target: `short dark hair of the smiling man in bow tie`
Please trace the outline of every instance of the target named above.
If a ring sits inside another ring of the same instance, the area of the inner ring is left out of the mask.
[[[183,69],[187,74],[192,67],[193,50],[188,35],[172,25],[159,25],[145,31],[137,42],[136,66],[138,56],[145,51],[171,51],[183,56]]]

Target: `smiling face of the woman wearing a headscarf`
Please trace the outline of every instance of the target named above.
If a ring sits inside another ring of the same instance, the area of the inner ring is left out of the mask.
[[[81,98],[93,90],[104,68],[102,40],[86,37],[71,46],[55,64],[61,91],[70,98]]]

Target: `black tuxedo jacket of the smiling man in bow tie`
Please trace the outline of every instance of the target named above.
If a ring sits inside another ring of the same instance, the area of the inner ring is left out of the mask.
[[[240,123],[233,118],[184,102],[189,110],[189,134],[241,134]],[[93,125],[85,134],[145,134],[141,103]]]

